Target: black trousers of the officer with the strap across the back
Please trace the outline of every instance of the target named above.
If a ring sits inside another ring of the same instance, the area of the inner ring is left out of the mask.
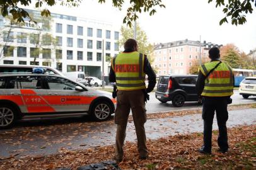
[[[229,97],[204,97],[202,105],[202,119],[204,120],[204,149],[211,151],[212,122],[216,111],[219,127],[218,145],[221,149],[228,149],[228,134],[226,121],[228,120],[227,99]]]

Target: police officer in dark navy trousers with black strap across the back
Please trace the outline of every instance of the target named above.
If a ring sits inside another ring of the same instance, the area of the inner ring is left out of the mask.
[[[219,48],[209,50],[211,62],[199,66],[197,92],[202,98],[202,119],[204,120],[204,145],[199,149],[203,154],[211,154],[212,121],[214,112],[219,127],[219,152],[228,152],[228,134],[226,121],[228,120],[228,100],[233,94],[233,72],[230,65],[219,60]],[[210,74],[208,74],[211,71]]]

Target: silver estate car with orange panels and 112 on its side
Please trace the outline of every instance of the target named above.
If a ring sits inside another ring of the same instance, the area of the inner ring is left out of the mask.
[[[90,115],[107,120],[115,111],[112,94],[87,89],[55,74],[0,74],[0,128],[23,118]]]

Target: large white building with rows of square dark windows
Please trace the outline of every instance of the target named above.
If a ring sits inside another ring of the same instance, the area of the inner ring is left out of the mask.
[[[40,11],[27,11],[35,18],[41,17]],[[104,59],[107,76],[110,57],[119,53],[117,41],[120,28],[112,23],[88,18],[56,13],[51,16],[50,28],[28,20],[14,25],[6,18],[0,18],[0,64],[47,65],[62,72],[84,71],[89,76],[100,77]],[[42,51],[35,56],[39,32],[40,40],[53,37],[55,45],[42,44]]]

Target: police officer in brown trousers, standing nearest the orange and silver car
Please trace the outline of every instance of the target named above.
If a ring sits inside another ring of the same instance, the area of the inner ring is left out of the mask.
[[[122,161],[124,151],[122,149],[125,140],[125,131],[130,110],[136,128],[137,149],[139,159],[147,159],[148,148],[146,146],[146,122],[145,96],[154,89],[156,74],[154,74],[149,61],[144,54],[137,52],[137,42],[128,39],[124,43],[124,52],[121,52],[111,61],[109,81],[116,82],[117,108],[115,110],[115,123],[117,134],[115,139],[115,156],[117,162]],[[145,86],[145,75],[148,75],[148,88]]]

